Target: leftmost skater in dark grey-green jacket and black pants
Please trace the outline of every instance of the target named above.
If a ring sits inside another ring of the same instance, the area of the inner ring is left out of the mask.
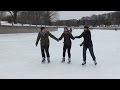
[[[38,45],[38,42],[40,40],[41,45],[41,53],[42,53],[42,63],[45,62],[45,52],[47,55],[48,63],[50,63],[50,54],[49,54],[49,36],[56,41],[59,41],[54,35],[52,35],[49,31],[45,29],[45,27],[41,27],[41,31],[38,33],[37,40],[36,40],[36,46]],[[44,52],[45,51],[45,52]]]

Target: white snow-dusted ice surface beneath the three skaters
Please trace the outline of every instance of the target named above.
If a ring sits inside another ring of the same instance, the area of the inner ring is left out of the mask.
[[[73,30],[80,35],[83,30]],[[63,29],[51,32],[60,37]],[[50,38],[51,63],[41,63],[40,46],[35,46],[37,33],[0,34],[1,79],[120,79],[120,31],[92,30],[94,52],[98,65],[87,51],[87,65],[82,66],[83,39],[72,41],[72,63],[61,64],[63,40]],[[67,53],[66,53],[67,55]],[[66,56],[67,61],[67,56]]]

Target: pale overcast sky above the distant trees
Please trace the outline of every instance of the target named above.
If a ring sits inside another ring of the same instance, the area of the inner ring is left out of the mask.
[[[114,11],[59,11],[59,19],[60,20],[68,20],[68,19],[80,19],[83,16],[91,16],[93,14],[103,14]]]

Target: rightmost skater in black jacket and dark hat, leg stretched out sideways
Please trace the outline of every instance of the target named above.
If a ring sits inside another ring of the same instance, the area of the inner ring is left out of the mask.
[[[97,62],[96,62],[96,57],[95,57],[94,51],[93,51],[93,43],[92,43],[92,40],[91,40],[91,32],[90,32],[88,26],[84,26],[84,32],[80,36],[76,36],[75,38],[81,38],[81,37],[84,38],[84,41],[80,45],[80,46],[83,45],[83,63],[82,63],[82,65],[86,64],[86,50],[87,50],[87,48],[90,51],[90,54],[91,54],[91,56],[93,58],[93,61],[94,61],[94,64],[96,65]]]

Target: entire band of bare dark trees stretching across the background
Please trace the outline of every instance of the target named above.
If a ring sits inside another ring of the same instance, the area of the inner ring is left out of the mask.
[[[120,11],[82,17],[79,20],[59,20],[59,11],[0,11],[0,21],[8,21],[12,24],[21,23],[30,25],[54,25],[54,26],[100,26],[120,25]],[[6,15],[8,13],[9,15]]]

